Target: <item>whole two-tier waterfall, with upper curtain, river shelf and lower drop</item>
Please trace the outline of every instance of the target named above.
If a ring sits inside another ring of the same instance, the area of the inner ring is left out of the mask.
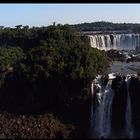
[[[115,55],[118,53],[118,57],[122,57],[124,53],[126,59],[134,59],[132,56],[135,55],[139,56],[139,52],[136,53],[135,50],[140,46],[140,34],[91,32],[85,34],[92,48],[105,51],[120,50],[120,52],[114,51]],[[97,75],[93,80],[91,84],[91,138],[140,137],[139,71],[139,62],[113,61],[104,74]]]

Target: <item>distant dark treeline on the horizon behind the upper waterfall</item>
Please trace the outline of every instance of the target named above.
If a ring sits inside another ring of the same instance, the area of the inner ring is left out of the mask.
[[[76,31],[132,31],[140,32],[140,23],[92,22],[71,25]]]

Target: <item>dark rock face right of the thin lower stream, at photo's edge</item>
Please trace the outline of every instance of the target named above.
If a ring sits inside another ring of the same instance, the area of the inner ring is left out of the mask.
[[[140,80],[138,77],[131,78],[129,93],[132,106],[132,123],[134,128],[140,133]]]

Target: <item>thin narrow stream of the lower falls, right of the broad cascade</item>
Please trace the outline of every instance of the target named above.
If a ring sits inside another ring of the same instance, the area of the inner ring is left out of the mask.
[[[130,95],[129,95],[129,83],[130,83],[131,77],[129,75],[126,76],[126,85],[127,85],[127,107],[126,107],[126,134],[129,138],[133,138],[133,125],[132,125],[132,110],[131,110],[131,102],[130,102]]]

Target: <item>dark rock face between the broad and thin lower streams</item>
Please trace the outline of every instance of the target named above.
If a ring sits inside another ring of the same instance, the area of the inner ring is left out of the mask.
[[[125,77],[116,76],[112,81],[114,98],[112,102],[112,130],[116,133],[122,132],[125,127],[125,111],[127,104],[127,86]]]

